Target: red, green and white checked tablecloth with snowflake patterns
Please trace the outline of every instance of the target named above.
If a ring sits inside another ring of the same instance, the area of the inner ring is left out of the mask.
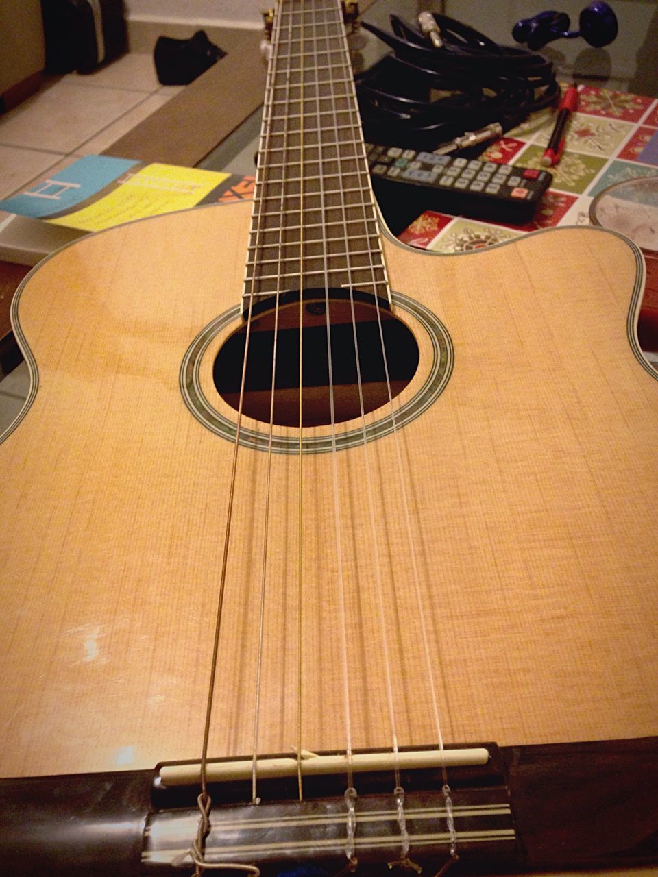
[[[552,225],[589,225],[590,203],[614,182],[658,176],[658,100],[580,86],[578,111],[569,120],[565,151],[550,168],[553,184],[525,225],[453,217],[427,210],[402,234],[411,246],[439,253],[467,253]],[[529,118],[491,144],[483,160],[540,168],[554,112]],[[647,289],[640,342],[658,351],[658,260],[647,258]]]

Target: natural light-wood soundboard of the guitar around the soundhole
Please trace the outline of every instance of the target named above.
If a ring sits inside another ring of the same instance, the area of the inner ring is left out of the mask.
[[[193,417],[179,373],[239,303],[248,225],[236,204],[121,226],[54,254],[18,295],[32,394],[0,445],[0,775],[199,756],[234,443]],[[384,243],[391,289],[446,326],[452,374],[423,395],[432,336],[397,308],[420,355],[396,407],[429,398],[397,432],[377,410],[365,449],[340,444],[352,422],[335,453],[300,460],[291,427],[275,427],[290,453],[239,447],[211,755],[254,747],[268,466],[259,752],[345,748],[343,641],[353,745],[390,746],[383,625],[399,743],[435,743],[420,603],[448,742],[655,735],[658,381],[626,329],[638,253],[589,229],[454,257]],[[233,423],[211,365],[240,320],[198,364]]]

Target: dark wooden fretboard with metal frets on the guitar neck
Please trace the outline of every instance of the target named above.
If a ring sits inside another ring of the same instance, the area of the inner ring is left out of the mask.
[[[245,302],[298,289],[388,296],[340,0],[279,0]]]

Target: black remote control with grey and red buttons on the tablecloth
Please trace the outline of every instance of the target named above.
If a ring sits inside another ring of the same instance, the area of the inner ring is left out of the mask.
[[[441,210],[455,216],[522,224],[532,218],[553,181],[546,170],[452,158],[400,146],[366,144],[366,151],[375,195],[391,231],[396,233],[390,213],[396,210],[396,203],[401,206],[400,199],[405,200],[400,183],[409,187],[407,196],[418,214]],[[408,206],[404,212],[408,212]]]

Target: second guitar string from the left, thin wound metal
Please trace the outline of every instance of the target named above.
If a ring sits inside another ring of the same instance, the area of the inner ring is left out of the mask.
[[[276,17],[275,27],[273,28],[272,40],[273,40],[273,53],[275,52],[275,48],[278,47],[280,32],[281,32],[281,16]],[[269,74],[268,74],[269,75]],[[269,95],[269,92],[268,92]],[[284,115],[284,127],[283,127],[283,149],[285,149],[288,141],[288,116],[289,116],[289,96],[290,89],[286,91],[285,96],[285,115]],[[264,119],[263,119],[263,130],[266,131],[266,146],[264,153],[259,151],[259,160],[258,160],[258,172],[261,172],[262,169],[262,161],[267,161],[268,159],[268,141],[271,134],[271,111],[272,106],[271,103],[266,102]],[[284,190],[285,190],[285,167],[282,171],[282,182],[281,182],[281,196],[280,196],[280,212],[283,215],[283,203],[284,203]],[[275,325],[274,325],[274,342],[273,342],[273,352],[272,352],[272,384],[270,389],[270,400],[269,400],[269,434],[268,434],[268,474],[267,474],[267,482],[265,488],[265,521],[263,526],[263,552],[262,552],[262,570],[261,570],[261,606],[259,613],[259,623],[258,623],[258,662],[256,669],[256,688],[254,693],[254,753],[252,758],[252,779],[251,779],[251,788],[252,788],[252,803],[256,804],[259,802],[258,792],[257,792],[257,772],[258,772],[258,729],[260,724],[261,717],[261,675],[262,675],[262,653],[263,653],[263,628],[265,621],[265,587],[266,587],[266,575],[267,575],[267,563],[268,563],[268,532],[269,532],[269,495],[270,495],[270,487],[271,487],[271,475],[272,475],[272,439],[274,432],[274,401],[275,401],[275,375],[276,375],[276,348],[278,343],[278,330],[279,330],[279,296],[278,290],[281,286],[281,266],[282,266],[282,239],[281,234],[279,235],[279,260],[277,263],[277,281],[276,281],[276,289],[277,295],[275,295]],[[257,251],[254,251],[254,281],[255,282],[255,259],[256,259]],[[252,287],[253,289],[253,287]]]

